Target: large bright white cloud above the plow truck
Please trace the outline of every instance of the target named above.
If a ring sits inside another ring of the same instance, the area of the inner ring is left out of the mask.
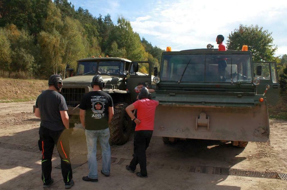
[[[266,25],[282,20],[287,1],[158,1],[153,10],[131,22],[141,36],[155,39],[153,45],[173,50],[205,48],[215,38],[228,34],[239,24]],[[260,26],[260,25],[259,25]],[[263,28],[272,32],[274,28]],[[275,39],[275,38],[274,38]],[[274,40],[275,41],[275,40]],[[225,40],[226,42],[226,40]],[[278,48],[279,50],[279,48]]]

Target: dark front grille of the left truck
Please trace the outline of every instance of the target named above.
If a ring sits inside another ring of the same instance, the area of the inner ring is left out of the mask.
[[[84,93],[85,88],[62,88],[62,95],[66,100],[66,104],[71,107],[80,104]]]

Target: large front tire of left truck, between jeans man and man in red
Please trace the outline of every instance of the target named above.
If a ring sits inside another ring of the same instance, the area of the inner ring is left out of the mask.
[[[132,131],[132,119],[126,113],[126,106],[126,103],[117,103],[114,105],[114,117],[109,128],[110,140],[116,145],[126,143]]]

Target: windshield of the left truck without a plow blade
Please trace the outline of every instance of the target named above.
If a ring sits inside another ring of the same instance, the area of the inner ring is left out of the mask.
[[[77,75],[83,74],[115,74],[123,75],[124,63],[121,61],[79,62]]]

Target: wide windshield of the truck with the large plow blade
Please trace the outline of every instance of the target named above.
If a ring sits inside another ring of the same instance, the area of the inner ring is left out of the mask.
[[[251,82],[251,58],[246,54],[165,54],[162,60],[162,81]]]

